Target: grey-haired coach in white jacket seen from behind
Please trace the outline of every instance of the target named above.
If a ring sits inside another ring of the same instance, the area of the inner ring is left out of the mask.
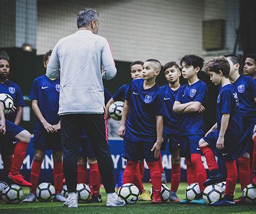
[[[81,130],[94,146],[101,178],[108,195],[106,205],[123,206],[114,193],[113,161],[109,151],[102,77],[116,76],[108,41],[98,36],[100,22],[94,9],[77,15],[78,31],[64,37],[52,51],[46,75],[60,78],[59,115],[63,145],[63,170],[68,189],[67,207],[78,207],[77,155]],[[49,103],[50,104],[50,103]]]

